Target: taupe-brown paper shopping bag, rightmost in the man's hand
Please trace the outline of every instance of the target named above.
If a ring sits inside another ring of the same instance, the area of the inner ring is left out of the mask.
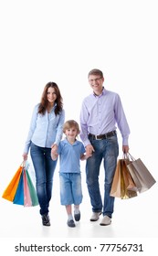
[[[156,183],[156,180],[149,172],[147,167],[142,163],[141,158],[135,159],[131,154],[128,154],[128,157],[130,161],[127,164],[127,167],[136,187],[138,188],[139,193],[142,193],[153,187],[153,185]]]

